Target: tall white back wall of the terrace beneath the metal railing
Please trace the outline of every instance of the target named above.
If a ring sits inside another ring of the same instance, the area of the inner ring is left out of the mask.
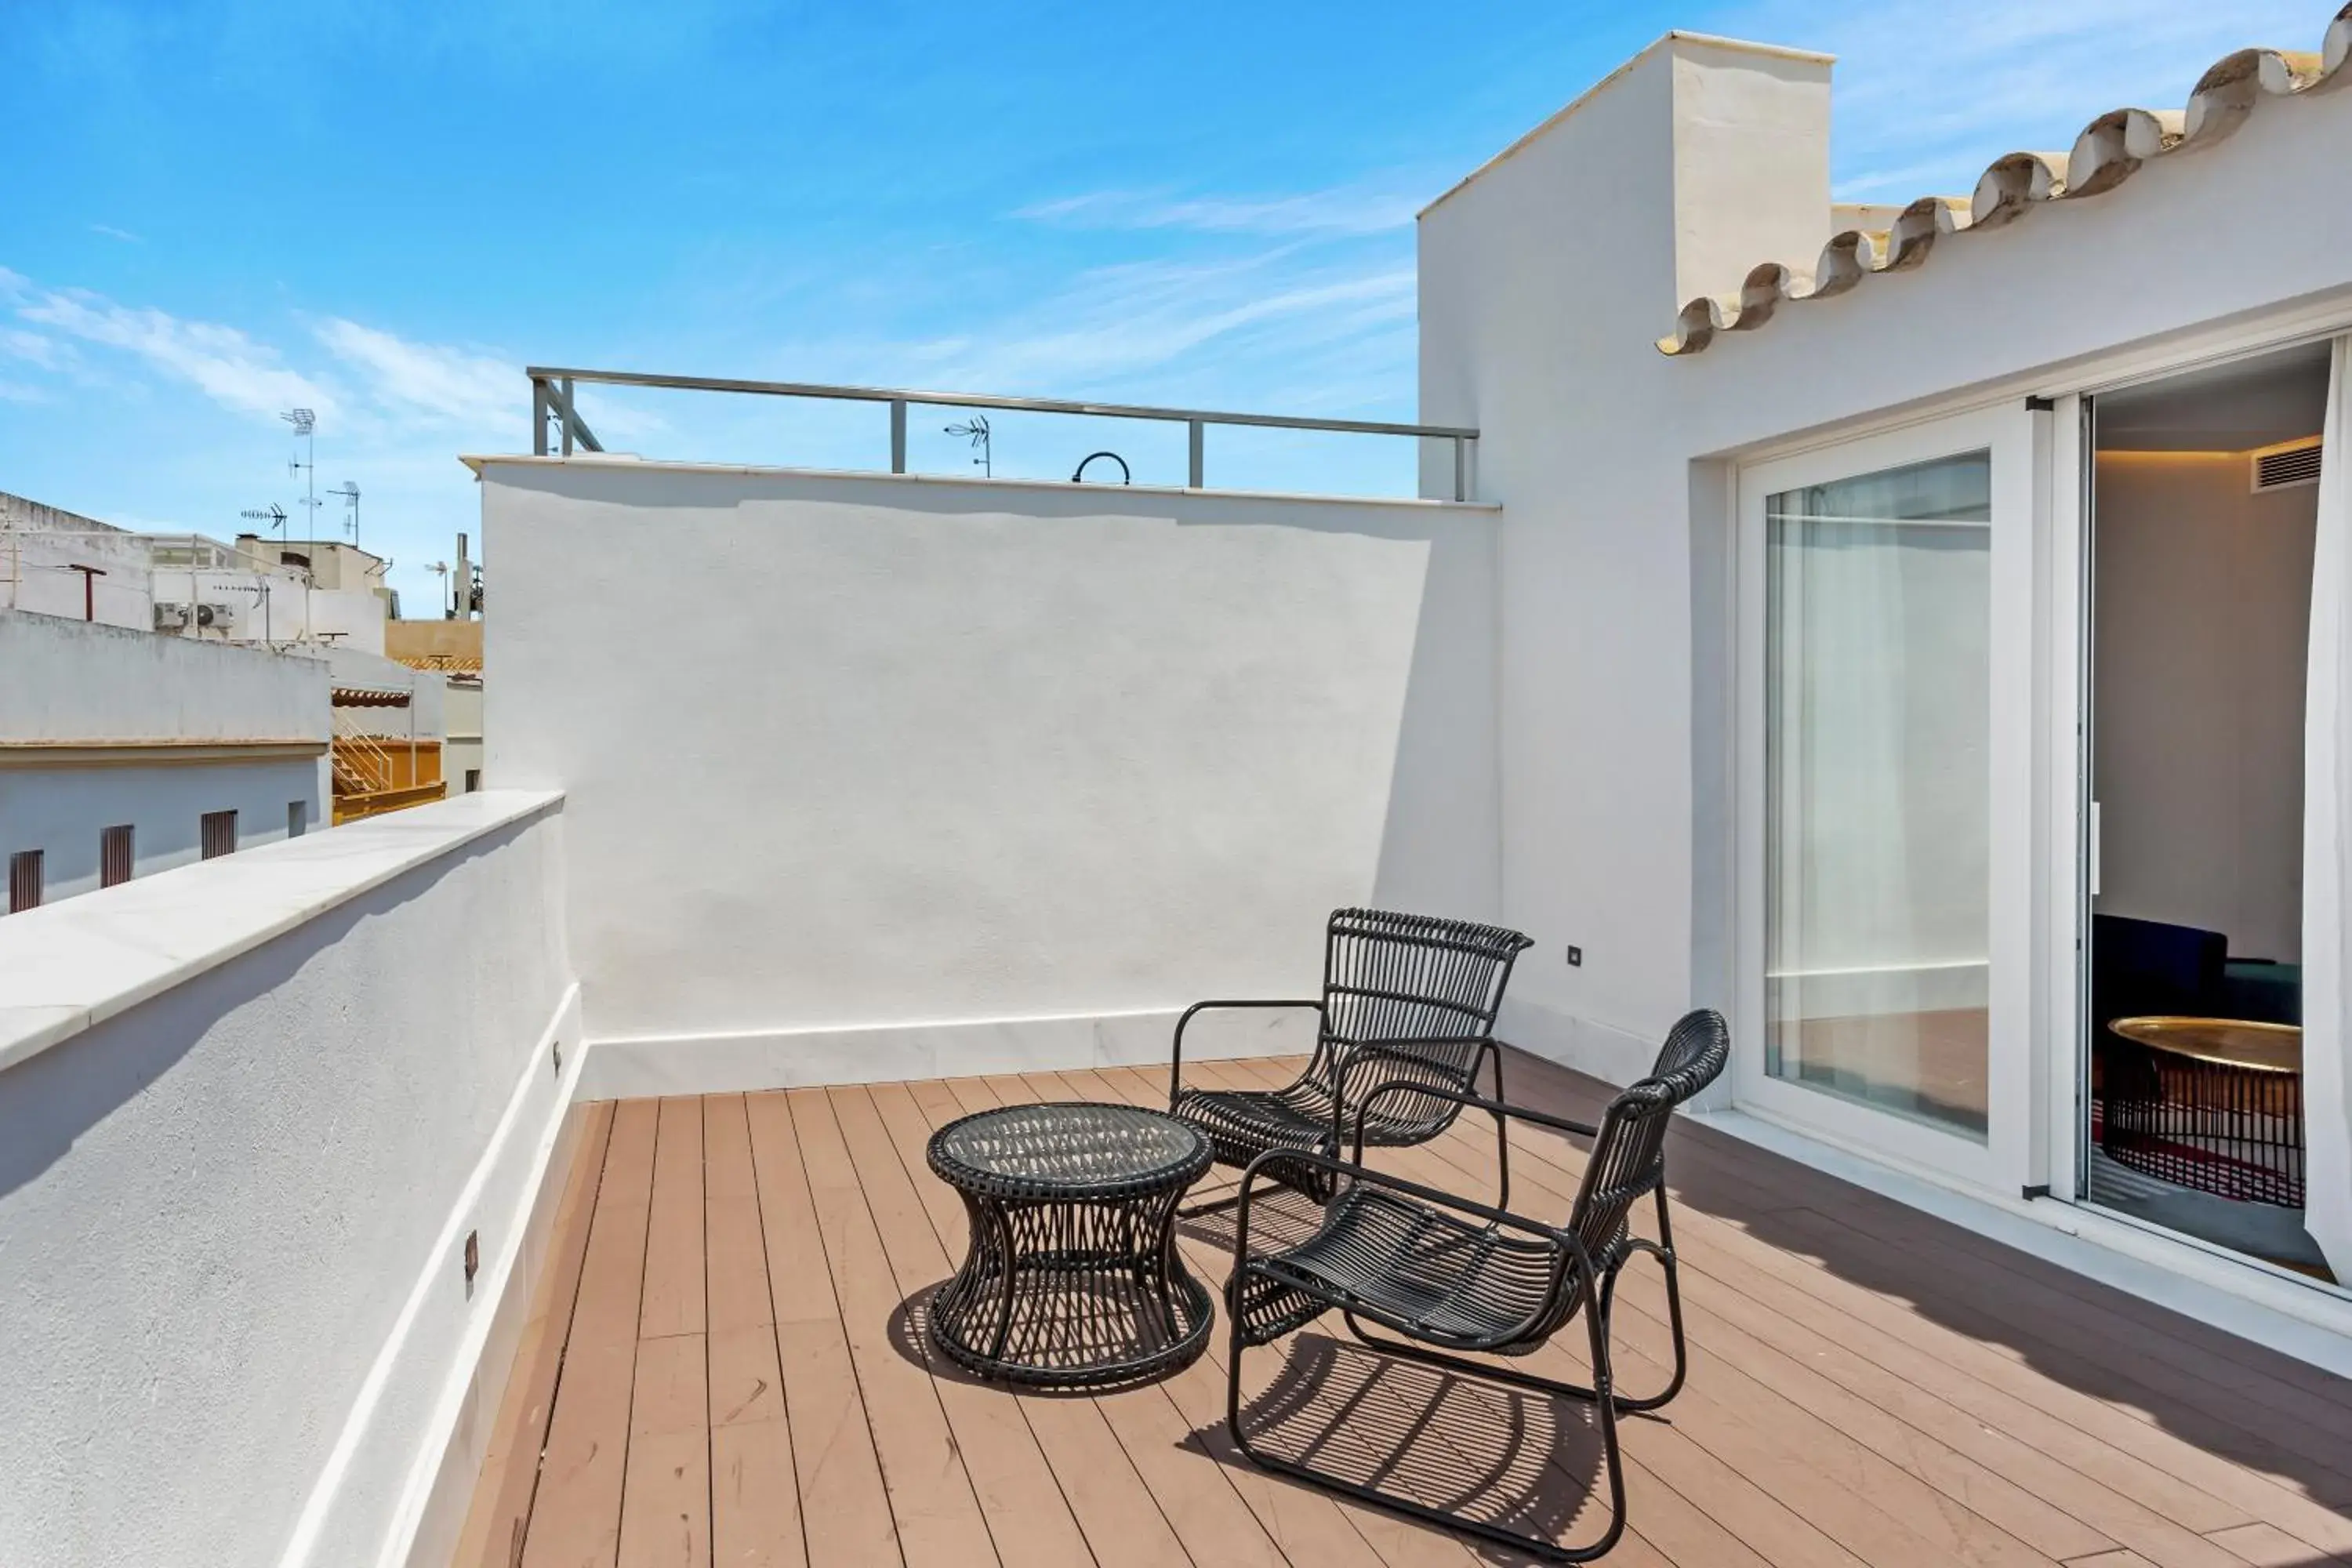
[[[1164,1060],[1312,994],[1338,905],[1489,917],[1494,527],[482,463],[487,771],[567,792],[590,1088]]]

